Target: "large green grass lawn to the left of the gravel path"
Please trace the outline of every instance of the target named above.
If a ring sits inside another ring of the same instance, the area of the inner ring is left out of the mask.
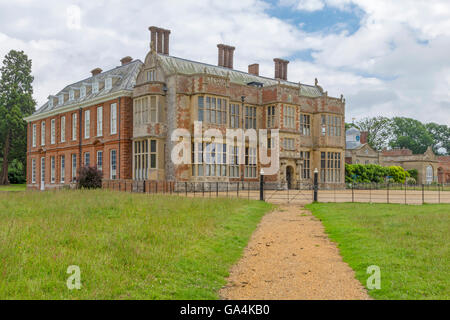
[[[271,205],[112,191],[0,192],[0,299],[216,299]],[[69,290],[67,268],[81,270]]]

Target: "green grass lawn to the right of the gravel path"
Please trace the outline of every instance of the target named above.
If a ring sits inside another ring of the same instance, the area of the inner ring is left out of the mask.
[[[375,299],[450,299],[450,205],[329,203],[307,208],[322,220],[366,286],[381,269]]]

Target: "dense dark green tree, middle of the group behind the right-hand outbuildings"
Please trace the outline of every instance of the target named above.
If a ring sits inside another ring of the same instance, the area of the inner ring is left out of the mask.
[[[415,119],[395,117],[392,119],[393,138],[389,145],[393,148],[410,149],[414,154],[424,153],[433,146],[433,138],[425,125]]]

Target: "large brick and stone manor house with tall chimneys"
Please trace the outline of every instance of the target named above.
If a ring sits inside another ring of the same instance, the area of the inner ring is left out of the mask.
[[[245,164],[181,164],[170,158],[176,128],[279,129],[280,170],[266,176],[280,188],[312,183],[343,184],[345,100],[319,85],[287,81],[288,61],[274,59],[274,78],[233,69],[235,48],[219,44],[218,66],[169,55],[170,31],[150,27],[144,63],[125,57],[121,65],[66,86],[25,120],[27,185],[70,185],[82,166],[97,166],[104,180],[257,182],[255,148],[245,146]],[[270,130],[269,130],[270,133]],[[193,141],[192,141],[193,142]],[[270,145],[270,143],[269,143]],[[223,155],[237,147],[199,146]],[[242,151],[242,150],[241,150]]]

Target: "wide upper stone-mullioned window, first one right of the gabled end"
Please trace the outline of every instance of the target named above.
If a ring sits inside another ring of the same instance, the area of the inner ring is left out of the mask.
[[[210,96],[198,97],[198,121],[226,124],[227,100]]]

